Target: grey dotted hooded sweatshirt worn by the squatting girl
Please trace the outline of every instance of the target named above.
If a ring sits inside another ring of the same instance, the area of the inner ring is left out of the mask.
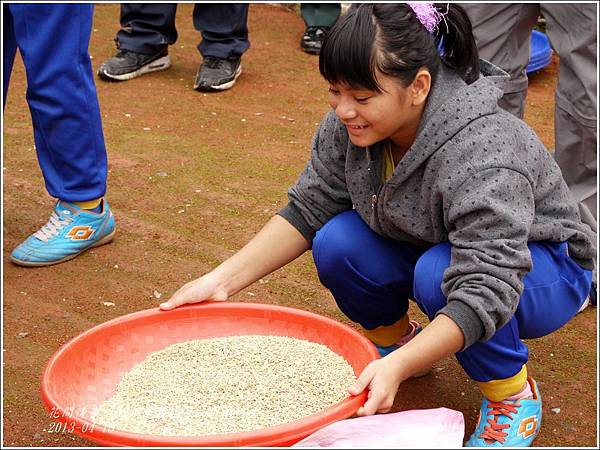
[[[357,147],[333,111],[279,214],[312,242],[333,216],[354,208],[381,236],[452,246],[438,314],[461,328],[465,347],[513,316],[531,270],[528,241],[567,242],[593,268],[595,234],[581,223],[560,169],[523,121],[498,107],[508,75],[481,61],[467,85],[442,64],[417,137],[383,182],[384,143]]]

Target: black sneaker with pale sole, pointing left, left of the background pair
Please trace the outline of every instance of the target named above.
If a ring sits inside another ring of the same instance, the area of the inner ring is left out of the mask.
[[[169,67],[171,59],[167,47],[154,55],[119,50],[115,56],[100,65],[98,75],[107,81],[125,81]]]

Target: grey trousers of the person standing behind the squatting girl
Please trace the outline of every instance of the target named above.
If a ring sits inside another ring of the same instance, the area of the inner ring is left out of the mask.
[[[461,4],[473,24],[480,57],[511,76],[498,104],[523,118],[531,31],[540,14],[560,57],[554,157],[579,202],[581,218],[596,231],[596,5]],[[597,264],[597,262],[595,262]],[[589,300],[596,304],[596,280]],[[587,306],[582,305],[582,310]]]

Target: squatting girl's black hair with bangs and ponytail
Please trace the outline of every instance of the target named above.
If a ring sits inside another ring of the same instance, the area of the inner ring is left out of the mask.
[[[330,83],[381,92],[378,72],[408,86],[423,67],[435,80],[443,59],[467,83],[475,81],[479,54],[471,21],[458,5],[435,7],[444,16],[433,35],[405,3],[353,4],[323,42],[321,75]]]

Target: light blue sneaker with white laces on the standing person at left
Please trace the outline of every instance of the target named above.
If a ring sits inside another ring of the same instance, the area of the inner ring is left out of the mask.
[[[48,222],[15,248],[10,259],[20,266],[49,266],[108,244],[115,235],[115,218],[102,199],[100,212],[59,200]]]

